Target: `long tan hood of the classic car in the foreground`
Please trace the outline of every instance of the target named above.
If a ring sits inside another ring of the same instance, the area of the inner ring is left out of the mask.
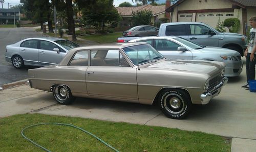
[[[222,71],[222,69],[225,67],[225,63],[216,62],[216,61],[203,61],[203,60],[179,60],[179,61],[165,60],[153,65],[150,65],[148,67],[168,69],[168,70],[189,71],[189,72],[214,75]]]

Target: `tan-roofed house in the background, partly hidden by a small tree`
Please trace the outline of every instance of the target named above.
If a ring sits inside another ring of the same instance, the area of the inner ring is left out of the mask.
[[[137,7],[116,7],[118,13],[122,17],[122,21],[119,23],[119,26],[131,27],[133,12],[139,12],[143,10],[151,10],[152,18],[151,22],[154,25],[155,22],[159,20],[159,18],[166,17],[165,14],[165,5],[160,6],[152,6],[152,5],[143,5]]]

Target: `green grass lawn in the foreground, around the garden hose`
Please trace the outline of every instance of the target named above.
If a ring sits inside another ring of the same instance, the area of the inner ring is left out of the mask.
[[[182,121],[182,120],[181,120]],[[26,126],[58,122],[89,131],[119,151],[230,151],[230,140],[201,132],[158,126],[118,123],[42,114],[14,115],[0,119],[1,151],[39,151],[22,137]],[[25,135],[51,151],[112,151],[92,136],[70,126],[39,125]]]

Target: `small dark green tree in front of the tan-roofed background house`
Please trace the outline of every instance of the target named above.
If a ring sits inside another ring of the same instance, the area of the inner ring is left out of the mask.
[[[150,10],[133,12],[133,26],[149,25],[152,16],[153,14]]]

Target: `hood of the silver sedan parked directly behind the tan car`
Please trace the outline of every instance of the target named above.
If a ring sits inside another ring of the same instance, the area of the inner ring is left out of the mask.
[[[197,49],[202,53],[211,53],[211,54],[218,54],[218,55],[229,55],[229,56],[239,56],[240,53],[238,53],[236,50],[228,49],[228,48],[222,48],[222,47],[212,47],[212,46],[206,46],[201,49]]]

